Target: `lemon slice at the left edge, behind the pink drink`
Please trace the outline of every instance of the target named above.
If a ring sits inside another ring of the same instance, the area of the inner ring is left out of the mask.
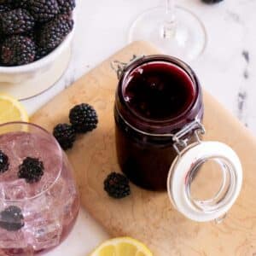
[[[12,96],[0,93],[0,125],[14,121],[28,122],[26,109]]]

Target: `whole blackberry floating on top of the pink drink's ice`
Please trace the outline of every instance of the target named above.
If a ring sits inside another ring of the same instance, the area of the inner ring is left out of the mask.
[[[37,158],[27,157],[19,166],[18,177],[27,183],[37,183],[44,175],[44,164]]]

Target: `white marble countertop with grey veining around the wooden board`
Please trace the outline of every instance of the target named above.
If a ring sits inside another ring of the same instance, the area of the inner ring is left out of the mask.
[[[73,81],[127,44],[129,27],[145,9],[164,0],[77,0],[77,28],[73,59],[62,79],[44,94],[27,100],[29,113],[48,102]],[[256,1],[224,0],[207,5],[201,0],[177,0],[177,4],[200,16],[207,28],[204,55],[190,63],[202,86],[230,109],[256,135]],[[222,124],[220,124],[222,125]],[[87,255],[108,238],[83,209],[71,236],[49,256]]]

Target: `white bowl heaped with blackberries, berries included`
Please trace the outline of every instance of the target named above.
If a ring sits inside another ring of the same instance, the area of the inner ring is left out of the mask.
[[[0,84],[45,75],[63,59],[75,6],[75,0],[0,0]]]

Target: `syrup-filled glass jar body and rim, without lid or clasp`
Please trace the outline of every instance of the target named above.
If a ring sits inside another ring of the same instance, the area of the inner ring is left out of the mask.
[[[189,76],[189,67],[185,71],[170,57],[145,58],[134,66],[120,79],[117,92],[119,165],[138,186],[166,190],[168,172],[177,153],[172,137],[153,137],[151,133],[175,133],[196,117],[201,120],[201,86],[192,72]],[[125,121],[145,133],[135,131]]]

